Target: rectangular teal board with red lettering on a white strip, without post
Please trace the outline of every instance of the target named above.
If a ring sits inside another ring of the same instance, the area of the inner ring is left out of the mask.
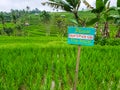
[[[93,46],[94,36],[95,36],[94,28],[68,27],[68,44]]]

